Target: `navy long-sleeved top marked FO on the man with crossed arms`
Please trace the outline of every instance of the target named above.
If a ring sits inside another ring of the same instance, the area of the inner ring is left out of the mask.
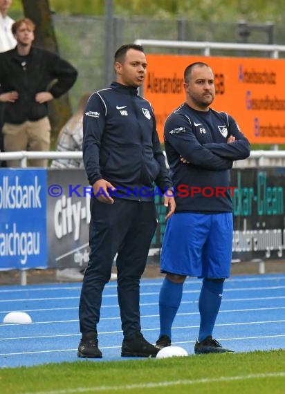
[[[230,135],[236,141],[228,144]],[[250,155],[250,144],[235,120],[225,112],[196,111],[182,104],[167,118],[164,138],[176,212],[232,212],[228,187],[235,185],[230,185],[230,169],[233,160]],[[225,194],[219,193],[225,188]]]

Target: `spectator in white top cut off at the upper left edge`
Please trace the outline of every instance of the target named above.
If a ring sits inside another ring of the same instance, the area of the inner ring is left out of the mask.
[[[17,44],[11,30],[14,19],[7,15],[11,5],[12,0],[0,0],[0,53],[14,48]],[[2,134],[3,113],[4,105],[0,103],[0,151],[4,150]],[[6,162],[0,161],[0,167],[6,167]]]

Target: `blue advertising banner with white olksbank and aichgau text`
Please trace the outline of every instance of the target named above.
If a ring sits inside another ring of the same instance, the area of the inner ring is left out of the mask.
[[[0,180],[0,256],[4,263],[9,259],[19,268],[41,254],[45,228],[42,185],[38,176],[28,173],[5,175]]]

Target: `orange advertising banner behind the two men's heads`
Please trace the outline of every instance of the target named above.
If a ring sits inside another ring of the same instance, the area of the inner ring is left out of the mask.
[[[193,62],[214,72],[212,109],[232,115],[252,144],[285,143],[284,59],[149,54],[143,95],[154,107],[160,142],[167,116],[185,102],[183,73]]]

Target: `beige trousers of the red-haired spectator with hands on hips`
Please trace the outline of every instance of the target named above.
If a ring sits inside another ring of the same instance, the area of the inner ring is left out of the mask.
[[[26,120],[21,124],[4,123],[4,151],[49,151],[50,121],[44,117],[35,122]],[[19,160],[7,160],[8,167],[20,167]],[[31,167],[47,167],[48,160],[30,160]]]

